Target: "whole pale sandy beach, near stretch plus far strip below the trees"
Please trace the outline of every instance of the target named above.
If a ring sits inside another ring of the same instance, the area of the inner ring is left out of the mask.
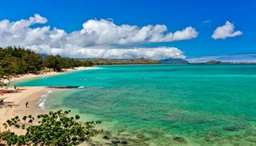
[[[87,69],[95,69],[95,67],[78,67],[74,69],[67,69],[63,72],[47,72],[41,73],[38,75],[35,74],[25,74],[22,76],[15,77],[11,80],[11,82],[30,80],[33,78],[39,77],[47,77],[54,76],[61,73],[74,72],[78,70],[87,70]],[[0,99],[4,99],[4,104],[0,105],[0,131],[5,130],[3,127],[3,123],[6,120],[13,118],[14,116],[19,116],[22,118],[25,115],[33,115],[37,116],[38,114],[44,114],[44,110],[42,110],[39,105],[39,100],[42,95],[45,95],[48,92],[48,89],[45,87],[17,87],[26,89],[23,91],[19,91],[17,93],[6,93],[1,94]],[[0,88],[0,90],[15,90],[14,87]],[[51,89],[56,91],[57,89]],[[28,107],[26,108],[26,102],[29,102]],[[17,134],[24,134],[25,130],[20,130],[16,128],[11,128]]]

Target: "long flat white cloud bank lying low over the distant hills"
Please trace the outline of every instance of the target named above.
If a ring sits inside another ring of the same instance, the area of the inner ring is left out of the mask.
[[[29,46],[29,48],[46,54],[60,54],[62,56],[74,58],[185,58],[184,52],[175,47],[151,47],[151,48],[114,48],[110,46],[94,47],[67,47],[49,48],[49,46]]]

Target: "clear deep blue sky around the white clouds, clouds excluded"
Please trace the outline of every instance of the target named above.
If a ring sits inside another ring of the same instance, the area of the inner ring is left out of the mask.
[[[7,19],[15,22],[39,14],[48,21],[35,23],[29,26],[30,28],[50,26],[50,30],[56,27],[65,30],[67,34],[83,29],[83,23],[95,18],[113,21],[117,26],[128,24],[143,27],[148,24],[153,26],[163,24],[168,29],[163,34],[181,31],[189,26],[198,32],[196,37],[181,41],[108,44],[107,48],[110,49],[113,49],[113,46],[117,48],[175,47],[183,51],[186,58],[256,53],[255,0],[6,0],[1,1],[0,5],[0,21]],[[214,30],[223,26],[226,21],[235,26],[234,31],[241,31],[242,34],[226,39],[213,39],[211,36]],[[21,43],[23,44],[25,43]]]

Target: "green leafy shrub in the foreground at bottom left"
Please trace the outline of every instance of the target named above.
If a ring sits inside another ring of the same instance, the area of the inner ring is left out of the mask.
[[[101,121],[81,123],[78,121],[79,115],[68,117],[70,112],[49,112],[38,115],[37,120],[31,115],[22,119],[16,116],[7,120],[7,123],[3,124],[4,127],[26,128],[26,134],[16,135],[7,131],[1,134],[1,139],[7,145],[76,146],[102,131],[93,129],[93,126]],[[38,122],[34,124],[36,121]]]

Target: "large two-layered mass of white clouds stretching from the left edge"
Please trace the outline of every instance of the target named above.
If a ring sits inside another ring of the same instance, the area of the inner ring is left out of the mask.
[[[91,19],[83,23],[82,30],[71,33],[50,26],[30,28],[48,20],[39,14],[29,19],[0,21],[0,46],[23,46],[38,53],[61,54],[83,58],[184,58],[174,47],[128,48],[127,45],[172,42],[196,38],[198,32],[188,26],[183,30],[168,32],[165,25],[116,25],[112,19]],[[118,45],[119,47],[115,47]]]

